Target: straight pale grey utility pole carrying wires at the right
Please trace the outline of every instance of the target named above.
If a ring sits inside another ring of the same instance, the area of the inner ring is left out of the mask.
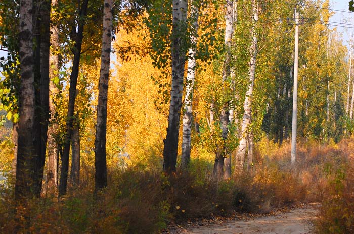
[[[296,131],[297,131],[297,73],[299,57],[299,13],[295,6],[295,56],[294,56],[294,90],[292,101],[292,129],[291,129],[291,165],[296,160]]]

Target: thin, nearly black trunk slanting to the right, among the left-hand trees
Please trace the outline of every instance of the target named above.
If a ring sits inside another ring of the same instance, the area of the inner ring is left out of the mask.
[[[76,93],[76,85],[77,85],[77,76],[79,73],[81,44],[83,38],[83,27],[84,27],[83,18],[86,16],[88,3],[89,0],[84,0],[80,9],[80,20],[78,22],[75,46],[73,49],[74,60],[72,62],[72,71],[70,74],[69,104],[68,104],[68,114],[67,114],[66,127],[65,127],[66,129],[65,129],[65,137],[64,137],[64,150],[61,157],[62,167],[60,172],[59,196],[66,194],[66,188],[68,183],[70,139],[71,139],[74,108],[75,108],[75,97],[76,97],[75,93]],[[73,30],[76,32],[76,27],[74,27]]]

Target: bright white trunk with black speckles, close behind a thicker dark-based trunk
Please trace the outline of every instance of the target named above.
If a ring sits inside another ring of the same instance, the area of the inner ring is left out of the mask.
[[[193,86],[195,78],[196,66],[196,45],[197,45],[197,31],[198,31],[198,8],[191,3],[191,15],[193,17],[193,32],[191,36],[191,48],[188,52],[188,70],[187,70],[187,84],[185,96],[185,114],[183,116],[183,138],[182,138],[182,158],[181,167],[186,170],[191,160],[191,130],[192,130],[192,102],[193,102]]]

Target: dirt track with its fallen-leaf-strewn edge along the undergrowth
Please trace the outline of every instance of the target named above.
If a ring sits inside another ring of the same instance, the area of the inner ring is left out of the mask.
[[[315,219],[313,206],[302,205],[277,210],[267,215],[236,215],[233,219],[214,219],[174,226],[169,233],[195,234],[307,234],[311,233],[311,220]],[[167,232],[168,233],[168,232]]]

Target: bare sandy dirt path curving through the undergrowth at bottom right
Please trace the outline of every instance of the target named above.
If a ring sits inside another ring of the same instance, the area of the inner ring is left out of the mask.
[[[311,233],[309,221],[315,216],[311,207],[296,208],[286,213],[255,218],[245,221],[227,221],[221,224],[196,226],[181,230],[180,233],[195,234],[305,234]]]

